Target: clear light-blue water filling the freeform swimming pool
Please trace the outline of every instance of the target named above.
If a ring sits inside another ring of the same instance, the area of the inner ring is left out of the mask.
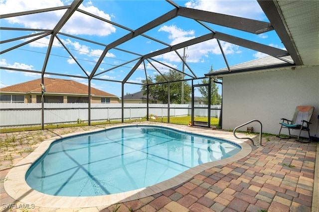
[[[55,141],[27,171],[26,182],[55,196],[116,194],[157,184],[240,149],[164,127],[118,127]]]

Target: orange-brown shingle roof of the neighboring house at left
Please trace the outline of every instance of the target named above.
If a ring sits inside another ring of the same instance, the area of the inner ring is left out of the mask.
[[[25,83],[4,87],[0,92],[11,93],[41,93],[41,79],[31,80]],[[89,87],[73,80],[64,80],[56,78],[44,78],[44,87],[46,93],[52,94],[76,94],[87,95]],[[113,94],[91,87],[91,95],[103,97],[116,97]]]

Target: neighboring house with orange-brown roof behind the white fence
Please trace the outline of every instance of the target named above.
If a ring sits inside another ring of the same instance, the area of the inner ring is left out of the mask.
[[[0,89],[0,102],[41,103],[41,79]],[[73,80],[44,78],[45,103],[88,103],[89,87]],[[113,94],[91,87],[91,103],[119,103]]]

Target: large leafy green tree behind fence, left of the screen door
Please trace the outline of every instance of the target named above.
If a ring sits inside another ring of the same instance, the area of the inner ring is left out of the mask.
[[[163,104],[168,103],[168,84],[164,82],[172,82],[178,81],[182,79],[182,74],[176,70],[169,70],[168,73],[163,73],[161,75],[155,76],[148,76],[147,80],[142,80],[144,84],[142,86],[142,91],[144,91],[144,95],[147,94],[147,83],[162,83],[162,84],[155,84],[149,86],[149,93],[152,98],[161,101]],[[166,80],[167,81],[166,81]],[[186,82],[172,82],[169,85],[170,90],[170,103],[171,104],[180,104],[181,103],[181,83],[184,83],[184,103],[190,102],[190,93],[191,93],[191,86]]]

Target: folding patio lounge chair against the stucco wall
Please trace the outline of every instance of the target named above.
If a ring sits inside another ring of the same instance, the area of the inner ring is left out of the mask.
[[[288,128],[288,132],[289,132],[288,138],[296,137],[297,138],[296,141],[302,142],[301,140],[299,140],[299,138],[300,138],[301,131],[304,130],[304,131],[308,131],[309,142],[310,142],[311,140],[310,140],[309,125],[311,124],[310,118],[314,113],[314,109],[315,107],[313,106],[297,106],[292,120],[282,118],[283,122],[280,123],[281,127],[277,137],[287,138],[287,137],[280,137],[280,132],[282,128]],[[299,135],[298,136],[291,135],[290,129],[299,130]]]

